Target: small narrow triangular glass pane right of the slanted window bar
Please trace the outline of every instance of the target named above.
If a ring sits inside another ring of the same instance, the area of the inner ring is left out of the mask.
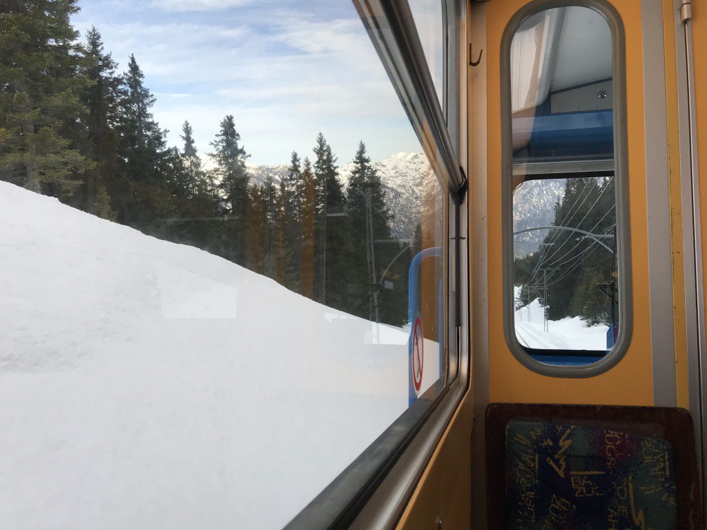
[[[444,101],[445,21],[443,0],[409,0],[440,105]]]

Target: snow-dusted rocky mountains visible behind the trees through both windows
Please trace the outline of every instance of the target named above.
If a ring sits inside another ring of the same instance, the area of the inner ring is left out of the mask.
[[[339,167],[339,178],[344,189],[349,184],[354,164]],[[411,239],[420,221],[424,187],[438,189],[437,179],[430,178],[431,167],[424,153],[397,153],[390,158],[373,163],[385,191],[387,206],[394,216],[391,220],[393,235],[402,240]],[[270,176],[279,184],[286,177],[288,165],[248,165],[253,182],[262,184]],[[535,226],[551,225],[555,204],[564,193],[563,179],[529,180],[513,194],[513,231]],[[534,252],[547,235],[547,230],[525,232],[514,237],[515,255]]]

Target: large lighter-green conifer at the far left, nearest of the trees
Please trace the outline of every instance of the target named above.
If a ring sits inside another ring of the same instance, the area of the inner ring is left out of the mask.
[[[79,95],[76,0],[0,6],[0,178],[66,199],[93,167],[75,145]]]

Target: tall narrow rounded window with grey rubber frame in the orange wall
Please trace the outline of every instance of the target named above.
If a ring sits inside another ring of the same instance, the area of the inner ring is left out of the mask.
[[[524,13],[507,33],[506,335],[533,367],[597,365],[624,328],[621,65],[610,20],[563,6]]]

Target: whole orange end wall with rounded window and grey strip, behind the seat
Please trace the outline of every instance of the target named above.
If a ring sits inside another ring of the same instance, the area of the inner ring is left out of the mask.
[[[472,2],[474,527],[486,404],[682,407],[700,430],[680,4]]]

